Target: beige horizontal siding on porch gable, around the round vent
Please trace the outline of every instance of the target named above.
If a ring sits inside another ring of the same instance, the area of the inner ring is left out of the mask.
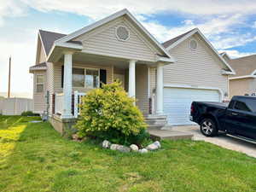
[[[127,41],[119,41],[116,38],[115,30],[117,26],[128,28],[130,38]],[[140,61],[155,61],[155,55],[158,53],[143,38],[143,35],[131,25],[130,21],[125,20],[124,17],[100,26],[75,40],[82,41],[84,52],[99,55],[110,55]]]

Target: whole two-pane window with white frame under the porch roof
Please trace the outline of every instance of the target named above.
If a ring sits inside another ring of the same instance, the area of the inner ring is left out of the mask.
[[[73,87],[82,87],[87,89],[99,87],[99,70],[87,68],[73,68],[72,84]]]

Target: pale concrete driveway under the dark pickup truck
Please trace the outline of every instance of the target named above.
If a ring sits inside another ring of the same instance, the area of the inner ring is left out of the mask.
[[[235,150],[256,158],[256,144],[254,143],[248,143],[222,133],[218,137],[205,137],[201,134],[199,125],[173,126],[172,130],[189,132],[194,135],[193,140],[216,144],[220,147]]]

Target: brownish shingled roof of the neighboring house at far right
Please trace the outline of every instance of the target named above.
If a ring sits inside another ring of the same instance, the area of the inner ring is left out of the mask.
[[[251,75],[256,70],[256,55],[231,59],[229,64],[236,71],[233,77]]]

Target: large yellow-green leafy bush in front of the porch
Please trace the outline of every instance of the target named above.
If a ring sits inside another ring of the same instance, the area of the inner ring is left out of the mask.
[[[143,143],[148,139],[143,114],[119,82],[90,90],[80,105],[76,128],[80,137],[108,139],[112,143]]]

